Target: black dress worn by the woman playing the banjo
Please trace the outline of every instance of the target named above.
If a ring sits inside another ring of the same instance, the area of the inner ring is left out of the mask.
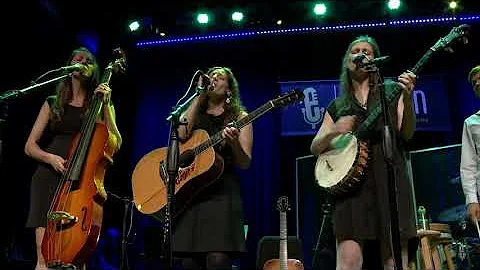
[[[385,90],[392,91],[394,83],[386,82]],[[348,101],[346,101],[347,99]],[[397,130],[398,98],[389,105],[392,130]],[[333,100],[327,108],[336,122],[344,115],[357,115],[363,121],[373,108],[380,104],[379,92],[370,91],[367,110],[361,107],[352,94]],[[388,195],[388,172],[382,150],[383,115],[373,124],[367,134],[359,135],[359,140],[369,142],[369,162],[365,181],[359,190],[335,200],[335,233],[342,240],[378,240],[382,258],[391,257],[390,239],[390,205]],[[394,146],[393,167],[397,181],[398,217],[400,238],[415,240],[415,209],[412,189],[407,175],[404,141],[400,134],[395,134],[397,145]]]

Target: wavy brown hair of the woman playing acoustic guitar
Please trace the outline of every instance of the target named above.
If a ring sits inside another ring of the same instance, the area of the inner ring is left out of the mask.
[[[245,106],[243,106],[240,99],[240,90],[238,87],[238,81],[233,75],[233,72],[228,67],[213,67],[207,71],[208,76],[212,76],[213,73],[223,71],[227,74],[228,88],[230,89],[231,95],[229,96],[230,103],[224,104],[225,109],[225,124],[228,124],[232,121],[235,121],[242,112],[246,112]],[[202,111],[205,111],[208,106],[208,100],[205,99],[205,102],[201,105]]]

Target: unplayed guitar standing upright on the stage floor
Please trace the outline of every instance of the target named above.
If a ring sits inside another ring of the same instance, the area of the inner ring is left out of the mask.
[[[287,245],[287,212],[290,210],[288,197],[277,200],[277,210],[280,212],[280,252],[279,259],[270,259],[263,265],[263,270],[304,270],[300,260],[288,258]]]

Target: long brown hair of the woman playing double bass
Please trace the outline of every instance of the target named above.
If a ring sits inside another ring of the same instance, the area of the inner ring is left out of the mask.
[[[87,89],[87,93],[85,95],[85,102],[83,103],[83,112],[85,113],[88,105],[90,104],[90,100],[92,99],[93,92],[100,82],[100,72],[95,56],[85,47],[79,47],[73,50],[69,59],[66,62],[66,65],[71,65],[72,59],[81,52],[87,53],[89,55],[90,60],[88,64],[93,69],[90,78],[81,81],[82,87],[84,89]],[[62,120],[62,117],[65,113],[65,105],[70,103],[72,101],[72,98],[72,78],[69,76],[57,84],[55,100],[50,110],[50,120],[52,122],[52,125],[55,125],[55,123]]]

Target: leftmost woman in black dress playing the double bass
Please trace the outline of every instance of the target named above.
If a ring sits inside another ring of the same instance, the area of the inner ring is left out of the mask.
[[[108,84],[100,84],[98,64],[86,48],[74,50],[67,65],[81,63],[80,71],[74,71],[57,85],[57,93],[43,103],[25,144],[25,153],[38,161],[30,188],[30,211],[26,226],[35,228],[37,251],[36,270],[47,269],[42,255],[42,240],[47,226],[47,212],[55,196],[60,178],[66,170],[66,159],[72,140],[80,131],[82,120],[94,93],[103,94],[102,122],[115,136],[117,149],[122,137],[115,122],[115,110],[110,100]],[[46,147],[42,147],[42,146]]]

